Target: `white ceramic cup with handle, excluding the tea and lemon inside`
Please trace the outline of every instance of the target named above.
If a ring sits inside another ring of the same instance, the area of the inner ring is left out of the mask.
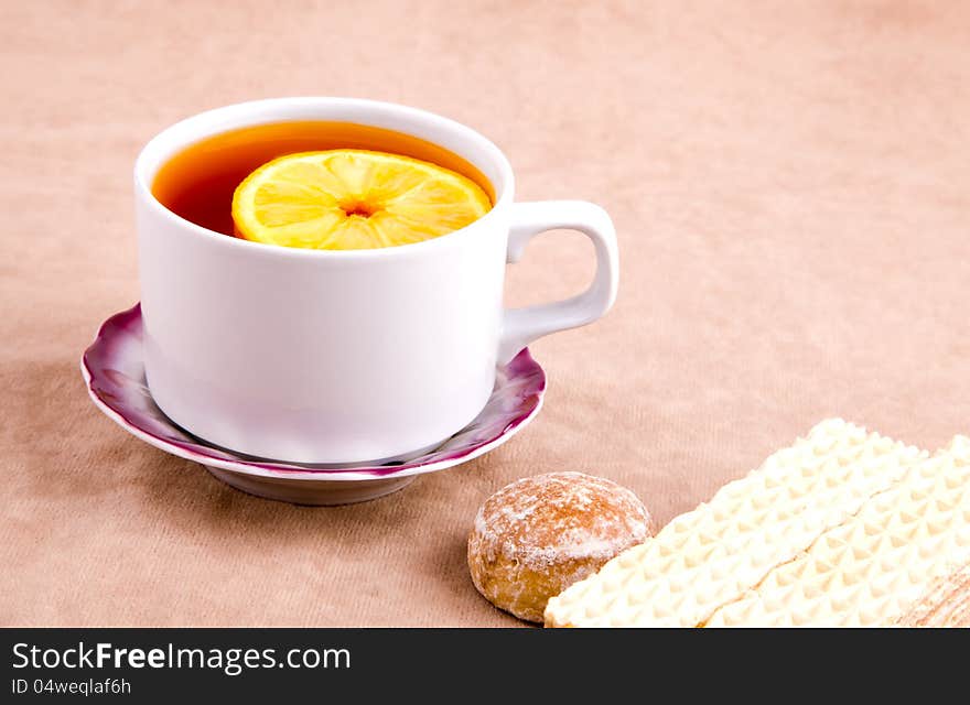
[[[488,178],[495,206],[423,242],[334,251],[227,237],[152,196],[159,167],[190,144],[290,120],[376,126],[434,142]],[[209,110],[144,147],[134,192],[152,397],[193,434],[255,456],[342,464],[433,446],[483,409],[497,362],[540,336],[595,321],[616,296],[616,237],[602,208],[513,203],[511,167],[498,148],[413,108],[280,98]],[[552,228],[593,241],[593,284],[567,301],[503,310],[506,262]]]

